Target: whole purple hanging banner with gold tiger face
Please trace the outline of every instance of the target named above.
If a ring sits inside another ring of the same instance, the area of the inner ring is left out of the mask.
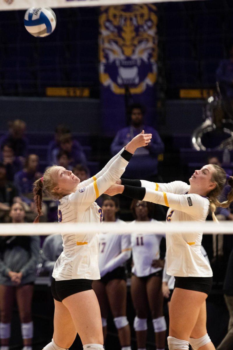
[[[106,134],[126,126],[129,102],[144,105],[145,124],[156,124],[157,22],[154,5],[101,7],[100,82]]]

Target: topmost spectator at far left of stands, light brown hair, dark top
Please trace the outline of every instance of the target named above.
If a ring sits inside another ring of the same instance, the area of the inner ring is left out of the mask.
[[[5,144],[11,144],[16,157],[25,159],[28,154],[28,139],[25,137],[26,123],[23,120],[15,119],[9,122],[9,131],[0,138],[0,149]]]

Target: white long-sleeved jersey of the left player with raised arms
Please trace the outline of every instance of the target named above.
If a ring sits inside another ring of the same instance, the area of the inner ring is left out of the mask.
[[[72,222],[78,225],[83,222],[102,221],[103,212],[95,200],[124,173],[128,161],[120,155],[122,151],[112,158],[101,172],[80,183],[74,193],[61,198],[58,205],[59,223]],[[99,279],[99,235],[65,233],[62,239],[64,250],[54,266],[53,278],[56,280]]]

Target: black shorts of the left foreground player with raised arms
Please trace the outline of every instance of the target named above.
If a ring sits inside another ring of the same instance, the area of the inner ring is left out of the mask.
[[[92,282],[92,280],[87,279],[56,281],[52,277],[52,296],[57,301],[63,301],[67,296],[92,289]]]

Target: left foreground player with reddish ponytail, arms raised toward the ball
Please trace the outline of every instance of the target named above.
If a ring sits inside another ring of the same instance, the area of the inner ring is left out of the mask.
[[[146,146],[151,134],[144,131],[133,138],[100,173],[80,183],[77,176],[63,167],[52,166],[34,182],[34,200],[39,221],[43,191],[59,199],[60,223],[100,222],[102,209],[95,203],[112,183],[123,174],[132,154]],[[78,227],[78,226],[77,226]],[[103,350],[100,307],[92,290],[92,280],[100,278],[98,267],[99,238],[97,234],[64,234],[64,250],[56,261],[51,290],[54,297],[54,333],[44,350],[69,348],[77,332],[83,349]]]

